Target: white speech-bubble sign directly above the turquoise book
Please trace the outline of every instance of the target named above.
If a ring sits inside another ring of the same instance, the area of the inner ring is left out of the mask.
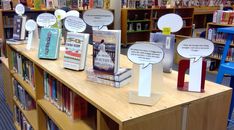
[[[37,17],[37,24],[41,27],[48,27],[56,23],[56,17],[50,13],[42,13]]]

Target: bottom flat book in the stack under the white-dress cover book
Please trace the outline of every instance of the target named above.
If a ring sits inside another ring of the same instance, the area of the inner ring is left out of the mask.
[[[122,81],[112,81],[112,80],[107,80],[107,79],[102,79],[102,78],[98,78],[97,76],[95,75],[88,75],[87,76],[87,80],[88,81],[92,81],[92,82],[95,82],[95,83],[99,83],[99,84],[104,84],[104,85],[108,85],[108,86],[113,86],[113,87],[116,87],[116,88],[120,88],[124,85],[127,85],[130,80],[131,80],[131,76],[123,79]]]

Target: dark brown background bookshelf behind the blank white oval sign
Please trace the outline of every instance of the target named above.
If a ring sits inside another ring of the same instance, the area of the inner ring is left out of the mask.
[[[176,35],[191,36],[193,24],[193,8],[168,9],[122,9],[121,10],[121,41],[124,46],[136,41],[149,41],[151,32],[159,32],[158,19],[168,13],[176,13],[183,19],[183,28]],[[138,28],[137,25],[141,27]]]

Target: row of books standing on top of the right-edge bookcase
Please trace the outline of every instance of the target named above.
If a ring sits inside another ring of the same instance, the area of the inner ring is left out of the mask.
[[[216,10],[213,13],[213,22],[217,24],[234,24],[234,11]]]

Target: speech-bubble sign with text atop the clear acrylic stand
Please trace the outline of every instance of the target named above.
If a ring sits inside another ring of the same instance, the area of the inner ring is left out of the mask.
[[[138,43],[129,47],[127,55],[130,61],[135,64],[143,64],[143,68],[146,68],[149,64],[161,62],[164,52],[156,45]]]

